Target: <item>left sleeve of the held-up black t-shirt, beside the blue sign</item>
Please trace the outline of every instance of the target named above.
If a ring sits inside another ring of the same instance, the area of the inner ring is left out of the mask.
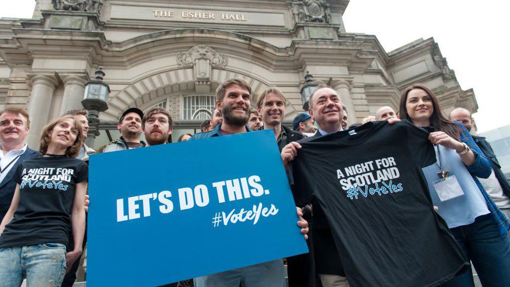
[[[313,189],[310,185],[308,166],[298,156],[288,164],[288,177],[296,206],[303,207],[312,200]]]

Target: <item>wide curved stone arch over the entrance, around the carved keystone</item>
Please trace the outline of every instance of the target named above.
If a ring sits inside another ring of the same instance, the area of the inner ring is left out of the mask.
[[[112,43],[110,52],[114,56],[103,57],[101,64],[107,69],[131,69],[131,72],[126,72],[131,73],[129,77],[122,75],[122,78],[118,78],[119,82],[115,83],[122,88],[112,92],[110,108],[103,113],[103,117],[116,119],[128,107],[144,108],[168,94],[195,90],[200,81],[194,75],[194,67],[183,65],[178,57],[200,44],[212,47],[229,59],[228,65],[213,65],[211,68],[208,85],[212,93],[218,83],[241,77],[250,83],[253,94],[258,95],[270,85],[278,86],[275,81],[277,77],[274,76],[282,73],[282,70],[297,69],[279,66],[279,62],[289,63],[289,57],[292,58],[291,48],[279,49],[239,33],[213,29],[174,29],[149,33]],[[123,60],[119,61],[119,57]],[[299,80],[292,79],[285,82],[285,85],[297,87]],[[252,106],[256,100],[254,97]],[[295,113],[294,106],[289,104],[288,114]]]

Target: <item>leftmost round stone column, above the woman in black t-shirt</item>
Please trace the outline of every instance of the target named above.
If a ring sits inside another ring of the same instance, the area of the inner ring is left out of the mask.
[[[53,76],[32,76],[32,93],[28,105],[30,114],[30,132],[27,143],[31,149],[39,150],[42,128],[48,123],[52,107],[53,93],[58,82]]]

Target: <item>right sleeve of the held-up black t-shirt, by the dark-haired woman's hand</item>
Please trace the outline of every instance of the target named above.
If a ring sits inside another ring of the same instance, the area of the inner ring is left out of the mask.
[[[403,123],[407,129],[407,147],[411,152],[411,158],[420,166],[425,168],[436,162],[434,146],[428,140],[432,128],[417,127],[410,122]]]

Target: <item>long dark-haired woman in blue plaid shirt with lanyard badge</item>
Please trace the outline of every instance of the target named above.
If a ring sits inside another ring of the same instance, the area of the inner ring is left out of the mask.
[[[468,130],[443,116],[436,95],[415,84],[400,99],[400,118],[419,127],[434,127],[436,164],[423,169],[433,205],[446,221],[484,287],[510,284],[510,222],[476,177],[488,178],[491,163]],[[420,234],[417,234],[419,236]],[[474,287],[471,269],[443,286]]]

